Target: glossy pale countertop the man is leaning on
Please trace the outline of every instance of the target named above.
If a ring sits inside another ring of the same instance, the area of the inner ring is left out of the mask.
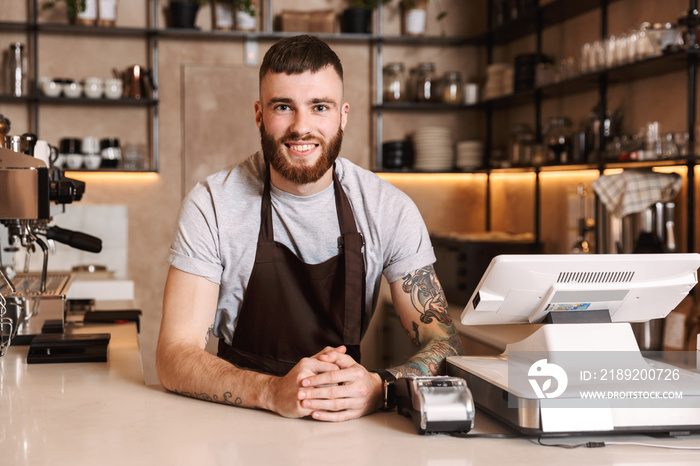
[[[566,450],[531,439],[420,436],[396,413],[331,424],[207,403],[143,383],[134,324],[112,333],[107,363],[27,365],[28,347],[0,358],[2,465],[697,465],[699,451],[634,446]],[[505,432],[477,412],[472,432]],[[597,439],[700,447],[700,435]],[[580,443],[589,438],[550,439]]]

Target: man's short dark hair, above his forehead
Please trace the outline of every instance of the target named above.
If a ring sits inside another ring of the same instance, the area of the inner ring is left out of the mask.
[[[327,66],[332,66],[343,80],[343,66],[328,44],[307,34],[285,37],[275,42],[265,54],[260,65],[260,82],[267,73],[315,73]]]

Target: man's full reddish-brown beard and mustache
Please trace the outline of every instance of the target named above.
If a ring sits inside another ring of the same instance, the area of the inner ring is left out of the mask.
[[[304,137],[297,133],[290,133],[286,139],[303,141]],[[333,166],[335,159],[338,158],[340,147],[343,143],[343,129],[338,127],[338,132],[335,133],[335,136],[327,145],[323,142],[320,143],[321,156],[312,166],[295,164],[287,159],[282,153],[282,145],[270,133],[265,131],[265,125],[260,125],[260,143],[265,160],[277,173],[292,183],[309,184],[318,181]]]

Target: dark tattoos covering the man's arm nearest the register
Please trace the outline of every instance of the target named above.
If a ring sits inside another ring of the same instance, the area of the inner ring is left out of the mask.
[[[406,275],[403,278],[402,289],[410,296],[420,322],[412,321],[411,331],[407,333],[414,345],[423,347],[406,364],[392,368],[391,371],[397,377],[444,374],[447,356],[462,354],[463,349],[459,335],[452,325],[452,318],[447,311],[447,299],[433,266],[423,267]],[[434,337],[429,342],[422,343],[421,328],[434,321],[445,336]]]

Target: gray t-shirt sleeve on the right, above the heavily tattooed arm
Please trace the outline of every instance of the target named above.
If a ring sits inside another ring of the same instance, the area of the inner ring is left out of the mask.
[[[395,188],[386,202],[382,227],[387,238],[384,276],[389,283],[435,262],[430,234],[413,201]]]

